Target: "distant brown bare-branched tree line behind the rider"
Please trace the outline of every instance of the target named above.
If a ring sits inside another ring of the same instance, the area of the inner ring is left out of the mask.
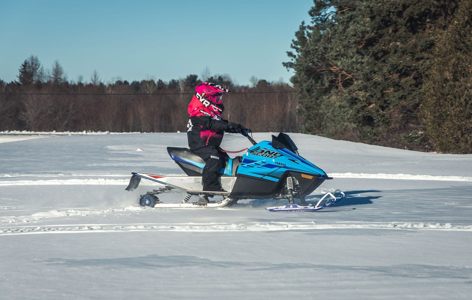
[[[147,77],[103,83],[97,71],[90,80],[67,80],[59,61],[45,70],[37,56],[18,69],[18,80],[0,80],[0,130],[31,131],[186,131],[187,107],[203,81],[225,86],[222,117],[254,131],[297,132],[302,117],[295,114],[295,90],[287,83],[251,78],[251,86],[233,83],[227,74],[198,75],[164,82]]]

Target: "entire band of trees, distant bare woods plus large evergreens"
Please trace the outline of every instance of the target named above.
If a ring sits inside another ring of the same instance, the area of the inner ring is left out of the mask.
[[[313,0],[283,65],[293,86],[188,75],[67,81],[31,56],[0,80],[0,130],[183,131],[194,86],[228,87],[223,117],[254,131],[472,153],[472,0]]]

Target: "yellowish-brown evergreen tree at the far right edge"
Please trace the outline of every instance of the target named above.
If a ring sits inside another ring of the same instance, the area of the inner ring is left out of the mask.
[[[472,153],[472,0],[462,0],[437,39],[421,105],[435,150]]]

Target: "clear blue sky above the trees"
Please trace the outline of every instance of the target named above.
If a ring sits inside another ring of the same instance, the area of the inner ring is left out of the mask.
[[[17,80],[36,55],[58,60],[69,80],[96,70],[114,79],[179,79],[228,74],[289,82],[282,66],[312,0],[0,0],[0,79]]]

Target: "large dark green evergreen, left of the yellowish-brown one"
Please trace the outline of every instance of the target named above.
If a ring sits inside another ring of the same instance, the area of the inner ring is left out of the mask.
[[[421,145],[424,72],[457,1],[314,0],[287,68],[303,131],[384,146]],[[413,145],[412,145],[413,144]]]

